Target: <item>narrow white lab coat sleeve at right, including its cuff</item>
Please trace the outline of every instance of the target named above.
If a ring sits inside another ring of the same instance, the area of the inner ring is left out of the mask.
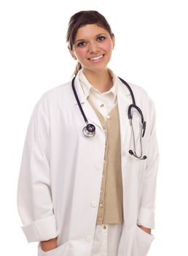
[[[154,102],[149,103],[149,150],[146,159],[146,171],[144,184],[141,191],[140,208],[138,213],[138,225],[154,228],[154,210],[157,184],[157,170],[159,162],[157,137],[156,137],[156,114]]]

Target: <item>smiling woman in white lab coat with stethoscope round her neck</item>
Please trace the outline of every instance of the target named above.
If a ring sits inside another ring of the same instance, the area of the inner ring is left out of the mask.
[[[154,105],[107,67],[114,34],[103,15],[73,15],[67,42],[75,78],[42,96],[28,126],[23,232],[39,255],[144,256],[154,239]]]

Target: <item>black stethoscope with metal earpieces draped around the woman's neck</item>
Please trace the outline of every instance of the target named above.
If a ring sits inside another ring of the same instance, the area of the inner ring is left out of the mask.
[[[72,79],[71,86],[72,86],[72,89],[73,89],[73,92],[74,92],[74,97],[77,99],[77,103],[79,105],[79,110],[81,111],[82,116],[85,119],[85,123],[86,123],[86,126],[82,129],[82,132],[83,132],[83,135],[85,135],[85,137],[91,138],[91,137],[93,137],[95,135],[95,125],[94,124],[89,124],[88,121],[87,121],[87,118],[85,116],[84,110],[82,109],[82,105],[79,102],[77,91],[76,91],[75,86],[74,86],[75,78],[76,77],[74,77]],[[138,106],[136,105],[136,101],[135,101],[135,97],[134,97],[132,89],[130,88],[128,83],[125,82],[125,80],[123,80],[122,78],[120,78],[120,80],[122,81],[122,83],[125,84],[125,86],[128,87],[128,90],[130,91],[130,95],[131,95],[132,101],[133,101],[133,104],[131,104],[128,107],[128,119],[129,119],[129,122],[130,122],[130,127],[131,127],[131,130],[132,130],[132,134],[133,134],[133,147],[134,147],[134,150],[129,150],[129,153],[131,155],[133,155],[134,157],[138,158],[138,159],[144,160],[144,159],[146,159],[146,156],[143,156],[143,153],[142,153],[142,138],[144,137],[144,134],[145,134],[145,131],[146,131],[146,121],[144,121],[144,116],[143,116],[143,113],[141,112],[141,109],[138,108]],[[141,116],[141,131],[140,131],[141,154],[140,155],[138,155],[136,153],[136,140],[135,140],[134,129],[133,129],[133,121],[132,121],[133,120],[133,114],[131,112],[131,110],[133,108],[135,108],[137,110],[137,112],[139,113],[139,115]]]

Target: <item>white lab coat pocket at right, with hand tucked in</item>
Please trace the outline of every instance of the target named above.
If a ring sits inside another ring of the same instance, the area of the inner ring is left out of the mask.
[[[154,240],[154,236],[149,235],[149,233],[146,233],[138,226],[136,226],[135,231],[135,241],[132,256],[146,256],[149,251],[149,247]]]

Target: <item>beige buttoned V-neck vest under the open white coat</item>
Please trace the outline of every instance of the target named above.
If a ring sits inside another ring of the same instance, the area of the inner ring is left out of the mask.
[[[105,121],[89,97],[87,97],[87,100],[92,105],[103,129],[106,131],[103,178],[96,224],[119,224],[123,222],[123,203],[118,105],[111,110],[110,118]]]

